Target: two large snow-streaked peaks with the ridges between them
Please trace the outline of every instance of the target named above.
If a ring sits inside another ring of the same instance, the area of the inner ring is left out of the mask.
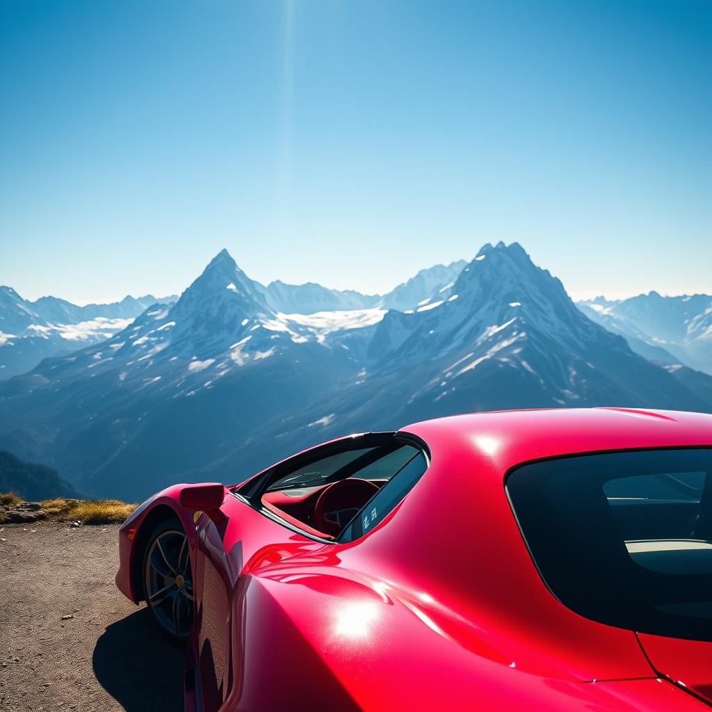
[[[264,287],[222,251],[175,303],[0,384],[0,448],[136,500],[172,481],[238,482],[339,434],[427,417],[712,411],[712,377],[637,353],[520,245],[433,270],[375,297]]]

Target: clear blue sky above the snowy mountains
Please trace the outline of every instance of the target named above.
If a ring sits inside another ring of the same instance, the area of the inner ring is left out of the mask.
[[[575,297],[712,291],[706,0],[4,0],[0,283],[384,291],[519,241]]]

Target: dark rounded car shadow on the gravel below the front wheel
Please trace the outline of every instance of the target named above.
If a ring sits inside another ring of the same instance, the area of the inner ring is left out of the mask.
[[[169,642],[142,608],[106,629],[92,664],[101,686],[127,712],[179,712],[184,654],[184,647]]]

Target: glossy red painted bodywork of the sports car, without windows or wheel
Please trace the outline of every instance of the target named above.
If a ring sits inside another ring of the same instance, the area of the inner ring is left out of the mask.
[[[645,636],[644,652],[634,631],[567,609],[533,564],[504,478],[566,454],[712,446],[711,416],[560,409],[403,430],[430,465],[353,543],[296,533],[227,488],[210,516],[168,488],[122,527],[116,580],[135,602],[142,529],[173,511],[188,533],[187,710],[708,708],[712,643]]]

